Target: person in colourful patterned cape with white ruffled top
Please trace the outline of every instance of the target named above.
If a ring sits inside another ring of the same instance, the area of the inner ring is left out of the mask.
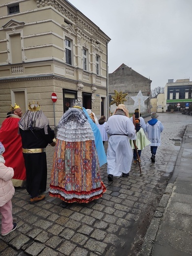
[[[89,203],[105,191],[94,131],[83,108],[74,106],[58,124],[49,195],[62,199],[66,207],[73,202]]]

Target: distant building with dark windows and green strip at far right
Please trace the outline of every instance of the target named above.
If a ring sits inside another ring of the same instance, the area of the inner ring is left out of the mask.
[[[169,79],[164,87],[165,108],[180,104],[181,109],[186,107],[186,103],[192,104],[192,81],[190,79],[178,79],[173,82]]]

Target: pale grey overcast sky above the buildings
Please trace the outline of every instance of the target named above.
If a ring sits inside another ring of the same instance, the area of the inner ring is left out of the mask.
[[[109,73],[122,63],[152,80],[192,81],[192,0],[69,0],[111,41]]]

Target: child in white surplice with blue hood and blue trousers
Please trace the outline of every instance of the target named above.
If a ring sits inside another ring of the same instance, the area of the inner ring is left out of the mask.
[[[151,144],[151,161],[155,162],[156,152],[158,147],[160,146],[160,133],[163,131],[162,123],[157,119],[158,115],[156,112],[151,114],[151,120],[147,122],[146,131],[148,134],[148,139],[150,140]]]

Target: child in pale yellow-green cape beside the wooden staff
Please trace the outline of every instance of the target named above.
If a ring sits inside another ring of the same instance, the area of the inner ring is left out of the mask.
[[[140,126],[140,120],[139,119],[135,119],[135,128],[136,128],[136,149],[138,152],[138,156],[139,159],[137,159],[137,154],[136,154],[136,150],[135,150],[135,146],[133,143],[133,140],[130,140],[130,146],[133,149],[133,164],[137,163],[137,160],[139,162],[141,162],[140,158],[141,158],[141,150],[144,149],[144,147],[148,146],[151,142],[147,139],[144,129],[141,128]]]

